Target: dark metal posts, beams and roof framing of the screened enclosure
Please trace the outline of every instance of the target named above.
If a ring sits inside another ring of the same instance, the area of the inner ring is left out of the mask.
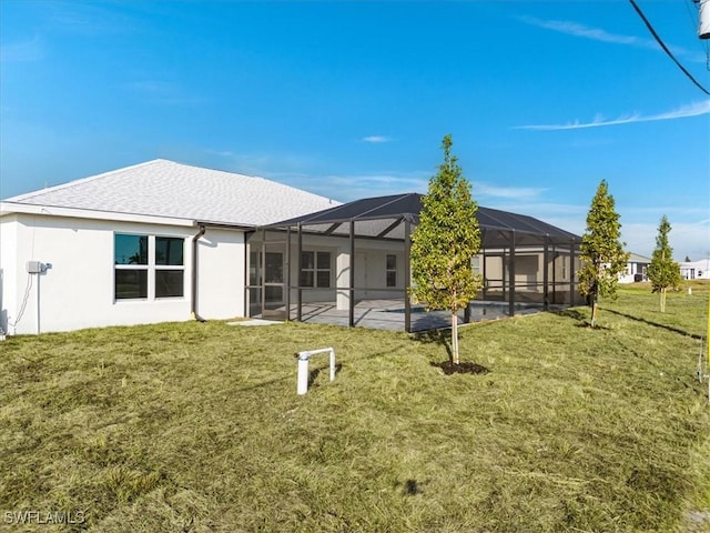
[[[355,240],[356,239],[375,239],[383,241],[398,241],[404,243],[404,319],[405,331],[412,331],[412,304],[410,299],[407,298],[410,288],[410,247],[412,247],[412,232],[419,220],[419,211],[422,209],[422,197],[419,193],[405,193],[394,194],[387,197],[374,197],[362,200],[355,200],[353,202],[335,205],[333,208],[318,211],[315,213],[306,214],[288,219],[274,224],[258,227],[253,233],[262,234],[262,242],[266,241],[268,232],[285,233],[285,248],[286,248],[286,275],[284,282],[284,303],[286,309],[286,318],[291,318],[291,290],[295,289],[297,294],[296,305],[296,320],[302,321],[302,288],[300,283],[293,285],[291,283],[291,244],[292,234],[296,233],[297,242],[297,269],[296,272],[302,272],[302,251],[303,251],[303,237],[304,234],[314,235],[329,235],[347,238],[349,242],[349,275],[348,286],[341,288],[335,286],[336,293],[338,291],[347,291],[349,318],[348,325],[352,328],[355,325],[355,291],[368,290],[368,288],[355,286]],[[550,247],[554,251],[557,251],[558,247],[567,250],[569,254],[569,303],[576,303],[576,272],[575,272],[575,259],[579,257],[579,245],[581,238],[570,233],[566,230],[551,225],[541,220],[532,217],[510,213],[507,211],[478,207],[476,215],[481,232],[481,253],[484,257],[484,278],[485,278],[485,258],[486,250],[501,250],[501,257],[504,258],[504,273],[503,273],[503,288],[504,288],[504,301],[506,300],[505,286],[509,288],[507,294],[508,301],[508,314],[515,315],[516,304],[516,270],[515,258],[516,247],[525,247],[528,250],[534,247],[544,258],[544,272],[542,272],[542,306],[548,310],[548,263]],[[389,221],[388,223],[386,223]],[[359,223],[361,230],[357,232],[357,224]],[[384,225],[383,225],[384,224]],[[248,242],[248,238],[247,238]],[[265,247],[262,247],[262,252],[265,251]],[[508,252],[506,254],[506,251]],[[248,247],[247,252],[248,254]],[[507,258],[507,259],[506,259]],[[505,275],[505,266],[507,266],[507,276]],[[246,291],[250,289],[257,289],[255,285],[250,285],[248,272],[246,272],[247,279]],[[506,279],[507,278],[507,279]],[[506,285],[507,281],[507,285]],[[565,282],[566,283],[566,282]],[[263,286],[262,286],[263,289]],[[377,288],[379,290],[379,288]],[[396,292],[403,292],[402,289],[396,289]],[[262,298],[264,294],[262,293]],[[248,298],[246,299],[248,302]],[[247,303],[248,305],[248,303]],[[468,311],[468,310],[467,310]]]

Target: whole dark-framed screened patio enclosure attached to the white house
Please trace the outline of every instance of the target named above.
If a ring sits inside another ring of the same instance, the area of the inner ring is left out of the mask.
[[[258,228],[247,235],[247,315],[423,331],[450,325],[408,296],[409,248],[422,194],[367,198]],[[484,288],[460,322],[582,303],[575,272],[581,239],[540,220],[484,207]]]

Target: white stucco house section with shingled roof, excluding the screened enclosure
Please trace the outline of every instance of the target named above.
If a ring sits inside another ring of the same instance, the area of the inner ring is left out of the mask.
[[[3,200],[0,328],[243,316],[245,233],[337,203],[165,160]]]

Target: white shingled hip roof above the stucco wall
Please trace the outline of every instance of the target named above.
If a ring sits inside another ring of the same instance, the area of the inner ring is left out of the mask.
[[[156,159],[2,203],[255,227],[339,202],[263,178]]]

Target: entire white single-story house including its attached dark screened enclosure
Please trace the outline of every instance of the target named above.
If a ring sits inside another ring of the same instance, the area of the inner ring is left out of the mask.
[[[327,312],[362,325],[364,305],[363,318],[388,313],[413,331],[408,247],[419,209],[416,193],[341,204],[165,160],[10,198],[0,203],[0,328]],[[481,300],[508,314],[580,303],[579,237],[483,207],[477,219]]]

